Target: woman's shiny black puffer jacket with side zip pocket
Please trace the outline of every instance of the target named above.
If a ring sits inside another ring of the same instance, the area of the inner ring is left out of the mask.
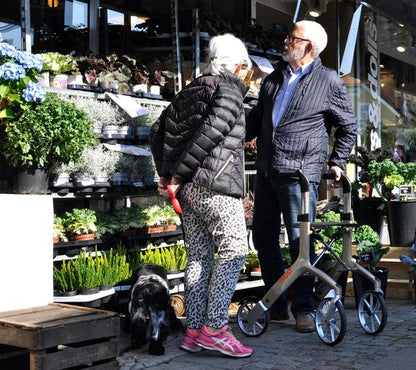
[[[228,72],[187,85],[150,132],[159,176],[242,197],[246,90]]]

